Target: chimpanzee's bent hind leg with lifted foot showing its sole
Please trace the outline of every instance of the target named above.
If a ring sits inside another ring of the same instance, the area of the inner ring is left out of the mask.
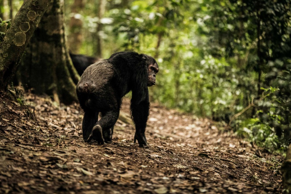
[[[93,127],[92,133],[90,134],[87,142],[90,142],[92,138],[97,140],[100,144],[104,144],[104,139],[108,143],[111,142],[113,126],[118,119],[119,109],[104,112],[102,115],[102,118]]]

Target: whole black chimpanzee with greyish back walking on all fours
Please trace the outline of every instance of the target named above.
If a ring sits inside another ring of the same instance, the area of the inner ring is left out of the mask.
[[[136,52],[118,52],[90,65],[77,84],[77,96],[85,114],[83,138],[98,143],[111,143],[122,97],[132,90],[131,114],[136,127],[136,140],[148,147],[145,127],[149,115],[148,86],[155,85],[159,66],[154,58]],[[98,114],[102,118],[98,121]]]

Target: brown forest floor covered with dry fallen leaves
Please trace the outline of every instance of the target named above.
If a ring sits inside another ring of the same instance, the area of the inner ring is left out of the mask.
[[[76,103],[0,98],[0,193],[281,193],[282,157],[209,119],[152,104],[141,148],[125,98],[113,143],[98,145]]]

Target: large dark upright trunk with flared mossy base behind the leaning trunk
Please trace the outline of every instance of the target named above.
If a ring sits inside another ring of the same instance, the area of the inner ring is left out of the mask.
[[[52,95],[65,104],[77,100],[79,75],[66,46],[63,0],[53,0],[26,49],[19,74],[38,94]]]

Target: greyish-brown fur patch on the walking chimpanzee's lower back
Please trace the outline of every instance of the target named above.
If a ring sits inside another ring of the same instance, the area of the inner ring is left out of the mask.
[[[86,83],[91,83],[89,88],[93,86],[94,90],[98,90],[108,83],[113,75],[112,64],[107,59],[104,59],[87,67],[78,85],[84,86]]]

